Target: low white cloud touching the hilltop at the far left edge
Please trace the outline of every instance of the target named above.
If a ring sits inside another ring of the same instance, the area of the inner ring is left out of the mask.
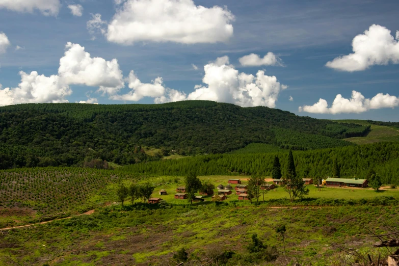
[[[60,77],[39,75],[36,71],[27,74],[19,72],[21,83],[17,88],[0,87],[0,105],[37,102],[68,102],[66,96],[72,94],[68,85],[60,82]]]

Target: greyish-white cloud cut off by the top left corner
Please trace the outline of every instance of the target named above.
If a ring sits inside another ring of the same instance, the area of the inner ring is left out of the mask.
[[[45,16],[57,16],[61,8],[60,0],[0,0],[0,9],[32,13],[35,9]]]

